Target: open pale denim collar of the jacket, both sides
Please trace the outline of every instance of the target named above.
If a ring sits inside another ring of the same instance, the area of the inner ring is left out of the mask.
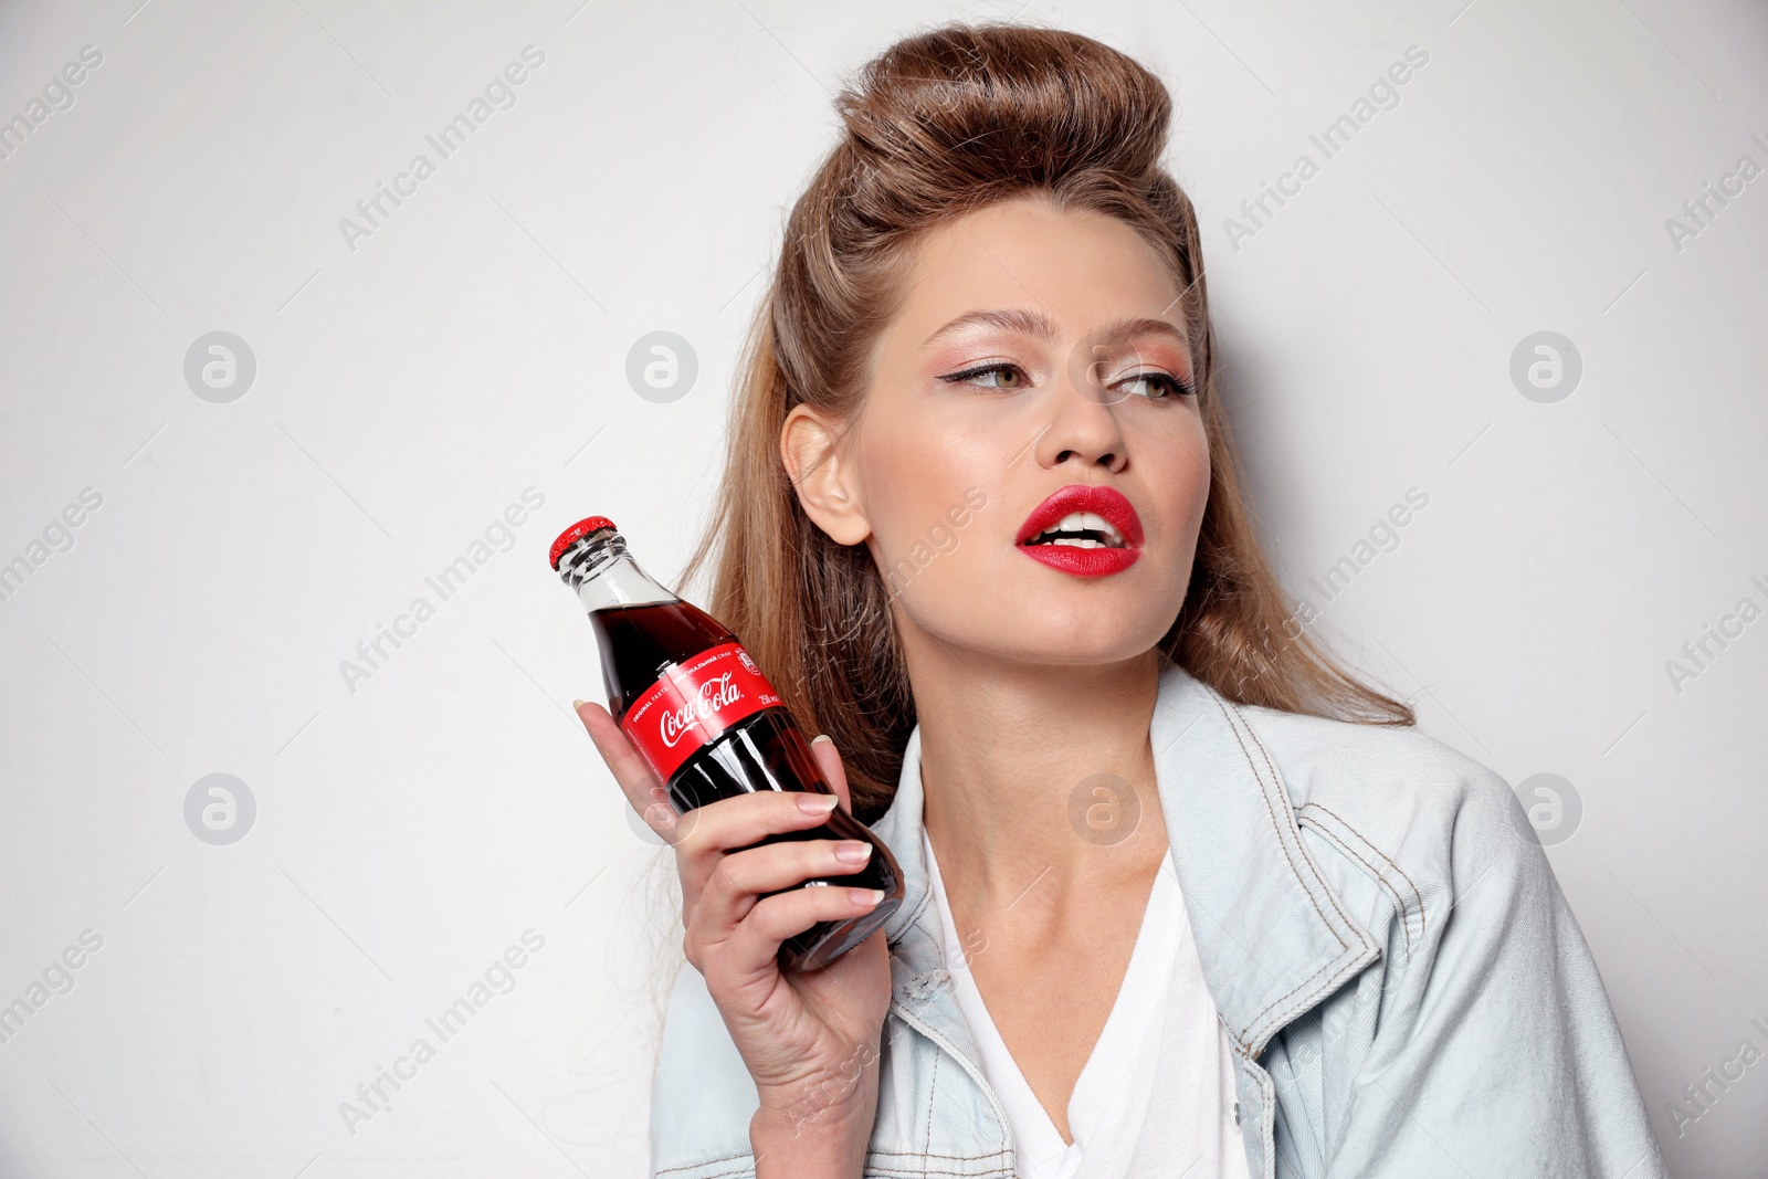
[[[1301,847],[1289,794],[1241,709],[1179,666],[1160,673],[1149,723],[1167,843],[1197,953],[1236,1052],[1255,1059],[1284,1025],[1381,949],[1345,914]],[[884,926],[893,1011],[976,1069],[951,997],[921,852],[921,728],[909,735],[889,810],[873,824],[903,871]]]

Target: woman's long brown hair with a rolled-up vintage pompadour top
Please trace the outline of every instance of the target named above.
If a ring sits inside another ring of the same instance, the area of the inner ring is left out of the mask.
[[[834,739],[854,813],[872,820],[889,806],[914,696],[884,576],[865,544],[836,544],[804,514],[780,431],[799,403],[852,421],[918,235],[1020,194],[1124,221],[1185,290],[1211,486],[1163,654],[1229,700],[1411,725],[1406,704],[1354,681],[1305,629],[1289,635],[1215,389],[1197,214],[1160,164],[1172,113],[1160,80],[1078,34],[949,25],[893,44],[836,110],[845,134],[787,221],[743,359],[720,506],[682,582],[716,551],[713,615],[755,652],[799,723]]]

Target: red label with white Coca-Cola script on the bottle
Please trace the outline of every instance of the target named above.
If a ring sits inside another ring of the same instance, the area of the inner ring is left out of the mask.
[[[690,757],[748,716],[785,704],[743,643],[709,647],[633,702],[621,728],[665,783]]]

